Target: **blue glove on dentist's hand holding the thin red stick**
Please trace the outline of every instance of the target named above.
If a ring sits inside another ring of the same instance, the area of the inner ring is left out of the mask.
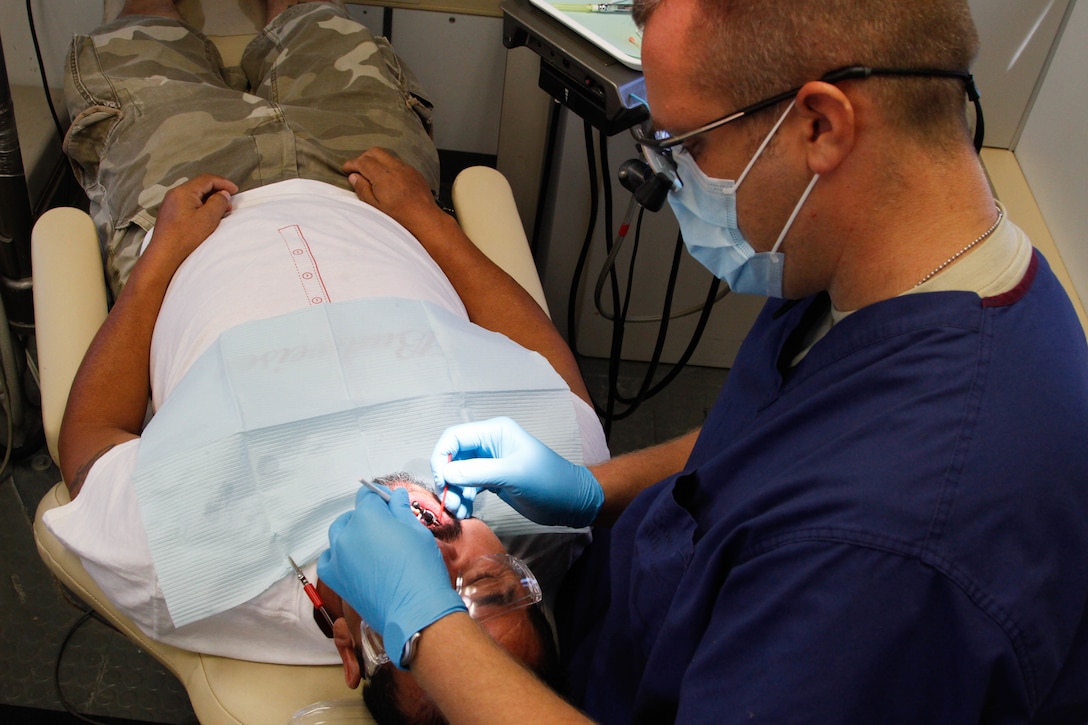
[[[570,463],[509,418],[446,429],[434,446],[431,470],[438,491],[449,487],[446,508],[458,518],[472,514],[481,490],[553,526],[589,526],[605,500],[589,468]]]

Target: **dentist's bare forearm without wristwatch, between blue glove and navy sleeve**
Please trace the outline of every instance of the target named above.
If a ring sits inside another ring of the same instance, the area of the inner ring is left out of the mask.
[[[698,430],[693,430],[666,443],[590,466],[605,492],[605,503],[595,524],[610,525],[643,490],[683,470],[696,438]]]

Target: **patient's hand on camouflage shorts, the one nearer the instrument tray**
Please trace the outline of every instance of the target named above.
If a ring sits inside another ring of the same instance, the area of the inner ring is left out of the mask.
[[[356,196],[393,217],[416,237],[444,216],[423,175],[391,151],[367,149],[345,163],[344,172]]]

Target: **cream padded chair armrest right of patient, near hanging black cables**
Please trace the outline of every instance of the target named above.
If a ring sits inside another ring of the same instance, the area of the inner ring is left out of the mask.
[[[454,180],[453,201],[465,234],[489,259],[517,280],[551,317],[514,192],[506,177],[489,167],[470,167]]]

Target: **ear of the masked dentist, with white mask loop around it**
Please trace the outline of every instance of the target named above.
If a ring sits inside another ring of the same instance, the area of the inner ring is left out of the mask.
[[[794,109],[806,124],[808,168],[820,175],[834,171],[854,149],[854,105],[838,86],[813,81],[798,91]]]

